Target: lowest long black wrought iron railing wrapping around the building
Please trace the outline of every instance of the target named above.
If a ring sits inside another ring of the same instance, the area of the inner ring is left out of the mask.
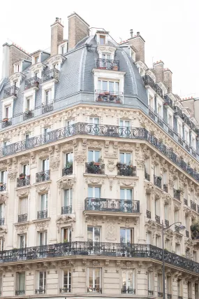
[[[20,249],[0,251],[0,263],[10,263],[20,260],[37,260],[58,256],[118,256],[129,258],[152,258],[162,261],[162,249],[148,244],[126,244],[108,242],[66,242],[43,246],[26,247]],[[184,256],[178,256],[165,251],[165,263],[184,270],[199,273],[199,263]]]

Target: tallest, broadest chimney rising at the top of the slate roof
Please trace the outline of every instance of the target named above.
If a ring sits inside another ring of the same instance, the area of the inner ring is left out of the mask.
[[[75,48],[77,43],[89,35],[89,25],[78,13],[68,16],[68,50]]]

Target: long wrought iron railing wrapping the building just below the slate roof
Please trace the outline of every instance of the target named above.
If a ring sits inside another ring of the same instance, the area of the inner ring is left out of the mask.
[[[8,146],[3,146],[0,148],[0,156],[13,155],[27,150],[27,148],[36,148],[41,144],[50,143],[57,141],[59,139],[64,139],[71,137],[72,135],[82,134],[85,135],[95,135],[98,136],[108,136],[112,138],[130,138],[130,139],[140,139],[145,140],[149,144],[152,144],[157,148],[163,155],[165,155],[169,160],[171,160],[175,165],[184,170],[187,174],[199,181],[199,173],[196,172],[190,165],[186,164],[182,158],[179,158],[172,149],[165,146],[162,141],[159,141],[156,137],[150,134],[143,127],[121,127],[115,125],[94,125],[90,123],[75,123],[73,125],[63,127],[48,133],[48,139],[46,141],[46,134],[42,134],[36,137],[31,137],[29,139],[24,139],[22,141],[17,141],[14,144],[9,144]]]

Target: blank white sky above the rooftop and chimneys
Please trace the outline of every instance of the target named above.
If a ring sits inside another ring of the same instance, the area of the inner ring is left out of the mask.
[[[14,42],[29,53],[45,50],[56,17],[64,21],[68,38],[67,17],[73,11],[118,42],[130,37],[130,29],[139,31],[147,66],[162,60],[173,73],[173,92],[199,97],[198,0],[6,0],[1,3],[0,45]]]

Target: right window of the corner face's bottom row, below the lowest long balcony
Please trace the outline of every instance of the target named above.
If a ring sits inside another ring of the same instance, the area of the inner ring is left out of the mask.
[[[121,293],[135,294],[135,269],[121,270]]]

